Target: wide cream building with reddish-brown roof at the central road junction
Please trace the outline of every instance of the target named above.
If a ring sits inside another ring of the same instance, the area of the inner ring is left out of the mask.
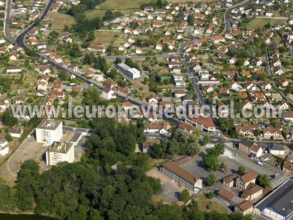
[[[216,126],[214,125],[211,117],[205,118],[200,115],[192,117],[192,118],[186,117],[185,122],[204,132],[208,132],[208,133],[216,132]]]

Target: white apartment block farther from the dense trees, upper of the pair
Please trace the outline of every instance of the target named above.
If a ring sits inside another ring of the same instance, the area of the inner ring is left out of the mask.
[[[42,120],[36,128],[37,142],[52,144],[63,136],[62,121]]]

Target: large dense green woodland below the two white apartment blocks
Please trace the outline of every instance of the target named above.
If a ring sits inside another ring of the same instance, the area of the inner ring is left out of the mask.
[[[146,176],[149,155],[134,153],[145,141],[144,124],[121,125],[94,119],[82,161],[63,162],[39,173],[34,160],[21,164],[11,188],[0,182],[0,210],[34,212],[64,220],[249,220],[235,214],[205,213],[197,201],[188,206],[154,203],[159,179]],[[111,165],[119,164],[117,169]]]

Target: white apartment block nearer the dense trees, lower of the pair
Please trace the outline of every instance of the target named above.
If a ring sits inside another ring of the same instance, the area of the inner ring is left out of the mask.
[[[74,144],[54,141],[46,150],[46,164],[51,166],[64,161],[74,161]]]

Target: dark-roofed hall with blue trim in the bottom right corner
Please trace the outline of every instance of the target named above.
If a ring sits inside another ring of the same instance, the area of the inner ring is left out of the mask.
[[[293,217],[293,179],[286,180],[269,196],[254,206],[254,211],[266,219],[289,220]]]

